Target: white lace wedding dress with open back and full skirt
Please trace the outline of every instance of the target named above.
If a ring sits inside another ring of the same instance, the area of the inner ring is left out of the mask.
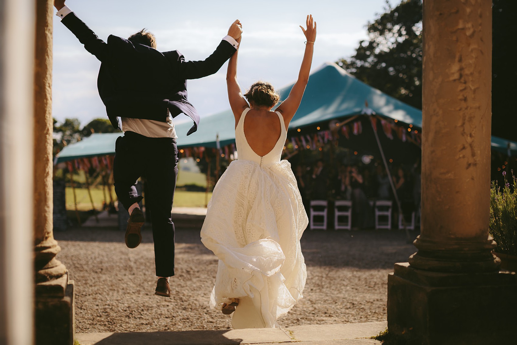
[[[234,328],[279,327],[277,319],[302,297],[307,271],[300,238],[308,218],[291,164],[280,161],[287,132],[266,155],[244,135],[245,109],[235,129],[238,160],[217,182],[201,241],[219,258],[210,307],[238,297]]]

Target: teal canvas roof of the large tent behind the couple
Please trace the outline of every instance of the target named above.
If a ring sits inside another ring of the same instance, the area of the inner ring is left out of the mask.
[[[280,99],[285,99],[292,87],[293,84],[278,90]],[[300,107],[289,129],[359,115],[365,107],[365,101],[368,101],[368,107],[377,115],[422,127],[422,112],[419,109],[364,84],[338,65],[327,63],[311,73]],[[187,136],[191,126],[190,121],[176,124],[178,147],[216,147],[217,135],[221,146],[235,142],[235,123],[230,109],[203,117],[200,128]],[[78,143],[65,147],[57,155],[56,163],[80,157],[114,154],[115,140],[118,136],[120,133],[92,134]],[[517,154],[517,143],[492,137],[492,148],[495,150],[507,152],[508,144],[511,153]]]

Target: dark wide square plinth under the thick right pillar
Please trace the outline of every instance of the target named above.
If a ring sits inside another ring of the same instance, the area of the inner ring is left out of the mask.
[[[408,343],[509,343],[516,324],[513,272],[440,273],[403,262],[388,275],[388,333]]]

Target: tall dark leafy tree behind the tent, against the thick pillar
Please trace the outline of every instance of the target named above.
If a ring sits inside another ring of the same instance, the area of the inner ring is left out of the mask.
[[[422,0],[404,0],[368,23],[369,41],[337,64],[362,82],[422,108]]]

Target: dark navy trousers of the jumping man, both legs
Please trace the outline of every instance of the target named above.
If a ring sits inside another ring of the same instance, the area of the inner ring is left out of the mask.
[[[178,159],[174,138],[149,138],[127,131],[117,138],[115,144],[115,193],[126,209],[142,200],[135,186],[139,177],[146,179],[145,207],[151,215],[156,275],[159,277],[174,275],[174,223],[171,212]]]

